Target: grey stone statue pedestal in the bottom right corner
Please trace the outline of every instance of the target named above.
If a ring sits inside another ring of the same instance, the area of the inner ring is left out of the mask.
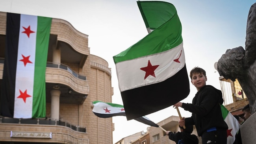
[[[252,114],[240,127],[243,144],[256,142],[256,113]]]

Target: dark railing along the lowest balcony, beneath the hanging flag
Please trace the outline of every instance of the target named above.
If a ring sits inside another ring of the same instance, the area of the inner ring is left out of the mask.
[[[42,125],[55,125],[55,126],[65,126],[69,127],[74,131],[79,131],[86,133],[86,127],[80,127],[73,125],[65,120],[47,120],[43,118],[36,119],[22,119],[22,118],[5,118],[0,117],[0,123],[9,123],[9,124],[42,124]]]

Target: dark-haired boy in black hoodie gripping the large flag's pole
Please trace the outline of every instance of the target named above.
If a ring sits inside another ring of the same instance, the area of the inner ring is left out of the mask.
[[[182,107],[192,113],[190,118],[179,120],[179,125],[195,125],[202,144],[226,144],[228,125],[223,120],[221,107],[223,103],[221,90],[206,85],[206,72],[195,67],[190,71],[191,83],[197,93],[192,103],[178,102],[173,107]]]

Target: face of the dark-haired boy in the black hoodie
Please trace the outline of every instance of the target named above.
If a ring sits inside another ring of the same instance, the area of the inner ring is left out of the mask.
[[[199,91],[202,87],[206,85],[207,78],[203,74],[193,73],[191,83],[197,88]]]

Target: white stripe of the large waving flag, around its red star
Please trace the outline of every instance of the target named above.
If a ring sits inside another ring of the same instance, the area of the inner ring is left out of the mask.
[[[179,56],[180,63],[174,62],[173,60],[177,59]],[[156,78],[148,76],[144,79],[145,71],[140,68],[146,67],[148,65],[148,60],[150,60],[152,66],[159,65],[154,71]],[[116,63],[119,89],[122,92],[145,85],[159,83],[174,76],[174,74],[181,70],[184,65],[185,55],[183,42],[177,47],[165,52]]]

